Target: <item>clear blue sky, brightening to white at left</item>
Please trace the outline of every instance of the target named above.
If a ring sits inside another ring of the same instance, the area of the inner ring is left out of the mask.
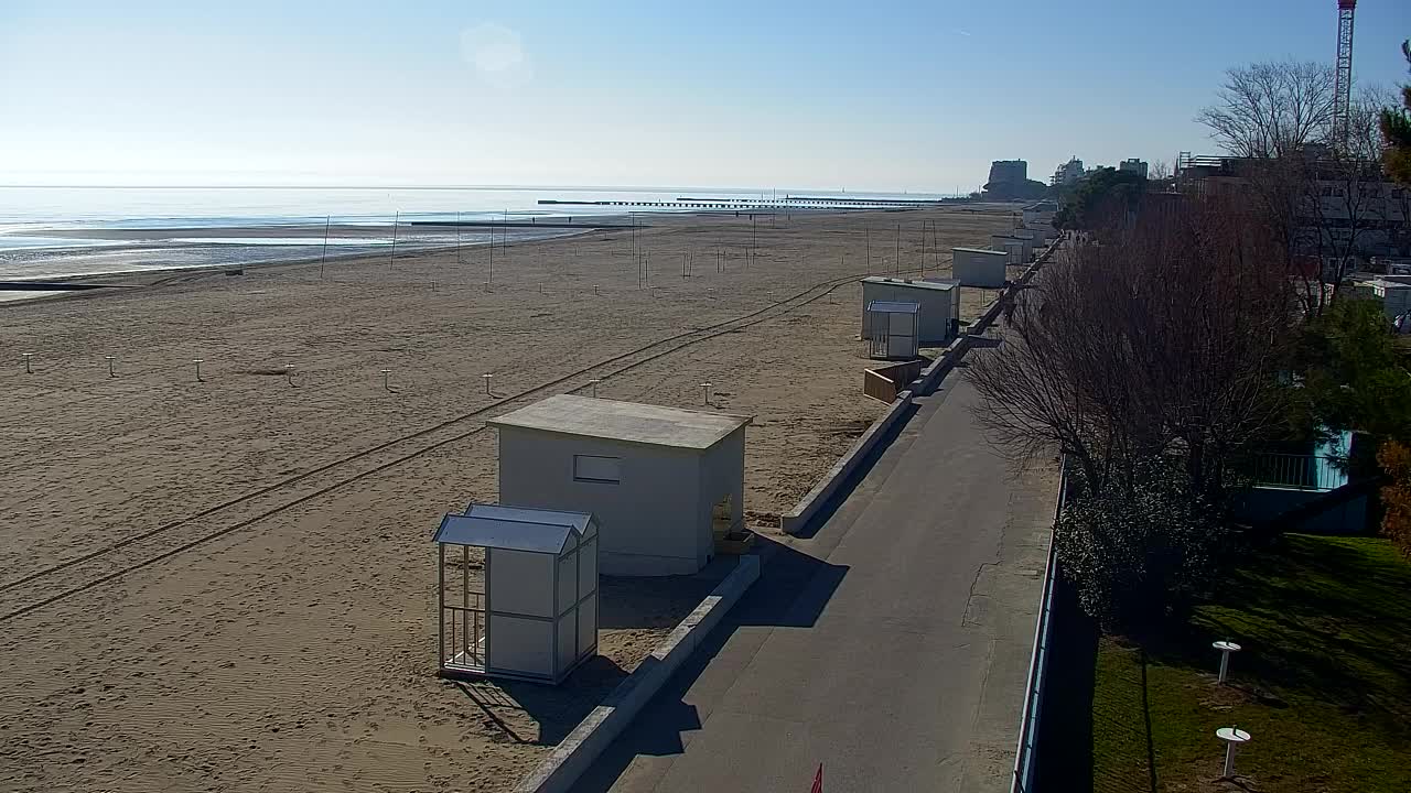
[[[1211,150],[1226,66],[1335,0],[0,0],[0,183],[944,190]],[[1359,80],[1411,1],[1362,0]]]

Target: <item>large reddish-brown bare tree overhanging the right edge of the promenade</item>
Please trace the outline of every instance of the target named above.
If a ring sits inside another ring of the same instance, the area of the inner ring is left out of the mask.
[[[1077,243],[971,364],[979,420],[1020,459],[1057,446],[1095,488],[1167,459],[1218,498],[1230,457],[1283,415],[1281,246],[1247,202],[1189,196]]]

